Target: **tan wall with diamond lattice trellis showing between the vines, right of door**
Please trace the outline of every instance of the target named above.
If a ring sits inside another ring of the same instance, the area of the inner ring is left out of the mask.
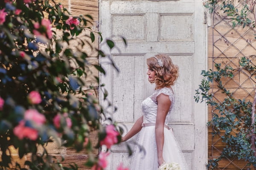
[[[236,7],[241,8],[243,1],[238,1]],[[252,14],[248,14],[249,16]],[[253,16],[252,16],[253,17]],[[254,20],[254,18],[253,18]],[[241,57],[249,57],[251,64],[256,64],[256,39],[254,32],[249,26],[236,26],[233,28],[232,20],[228,19],[227,14],[223,13],[219,7],[215,8],[212,13],[212,26],[208,32],[208,56],[209,68],[216,70],[214,65],[221,63],[221,68],[230,65],[233,68],[239,68],[239,59]],[[222,84],[230,90],[237,99],[253,100],[255,95],[254,86],[256,79],[247,71],[238,69],[234,73],[234,77],[222,79]],[[212,94],[214,98],[221,102],[225,95],[221,93],[215,83],[212,83]],[[212,118],[214,108],[209,106],[209,121]],[[224,148],[221,142],[221,136],[212,137],[212,129],[209,130],[208,152],[209,159],[215,159],[220,156]],[[246,162],[237,159],[224,158],[219,161],[218,170],[246,170]]]

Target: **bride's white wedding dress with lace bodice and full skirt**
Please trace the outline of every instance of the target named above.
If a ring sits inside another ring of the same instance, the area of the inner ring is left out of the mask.
[[[166,87],[157,89],[141,104],[143,111],[143,123],[148,126],[144,126],[140,130],[137,143],[145,149],[145,152],[141,151],[139,146],[135,146],[130,170],[157,170],[158,168],[155,126],[152,125],[152,123],[154,124],[156,122],[157,96],[160,94],[168,95],[172,102],[166,116],[165,124],[167,125],[170,120],[172,106],[175,102],[173,91],[171,88]],[[172,128],[168,130],[168,128],[164,127],[163,159],[167,163],[180,164],[181,170],[189,170],[183,153],[175,140]]]

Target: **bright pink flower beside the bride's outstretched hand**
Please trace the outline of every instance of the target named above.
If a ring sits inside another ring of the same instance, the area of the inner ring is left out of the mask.
[[[118,142],[117,137],[119,133],[115,130],[114,125],[108,125],[106,127],[106,137],[100,141],[100,145],[105,144],[108,148],[111,147],[111,145],[116,144]]]

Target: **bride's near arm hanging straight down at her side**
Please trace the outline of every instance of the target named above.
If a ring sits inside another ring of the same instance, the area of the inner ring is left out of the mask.
[[[165,94],[160,94],[157,96],[157,120],[155,126],[155,134],[156,134],[156,142],[157,142],[157,159],[158,164],[163,164],[163,142],[164,142],[164,135],[163,135],[163,128],[164,122],[166,119],[166,115],[169,111],[171,106],[171,101],[169,96]]]

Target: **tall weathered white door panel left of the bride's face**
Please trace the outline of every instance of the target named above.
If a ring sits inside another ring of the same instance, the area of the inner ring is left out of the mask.
[[[144,99],[144,55],[115,55],[113,61],[120,72],[113,71],[113,112],[116,122],[135,122],[141,115],[140,104]]]

